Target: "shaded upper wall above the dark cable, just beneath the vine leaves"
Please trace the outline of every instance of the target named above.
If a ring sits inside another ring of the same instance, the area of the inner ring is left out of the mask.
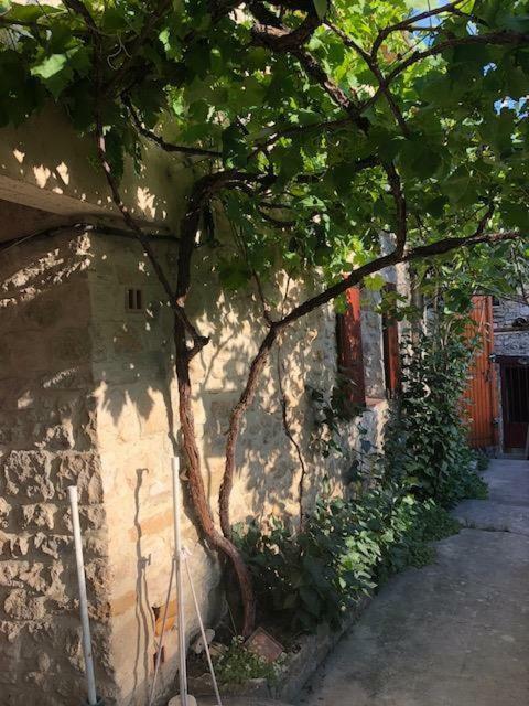
[[[57,214],[116,216],[93,140],[79,137],[61,108],[48,106],[17,128],[2,127],[1,136],[0,180],[6,182],[0,183],[0,196]],[[168,160],[162,150],[145,146],[139,172],[126,159],[120,193],[136,217],[162,224],[171,211],[175,222],[185,207],[183,194],[192,178],[185,159]],[[17,227],[12,224],[10,231]]]

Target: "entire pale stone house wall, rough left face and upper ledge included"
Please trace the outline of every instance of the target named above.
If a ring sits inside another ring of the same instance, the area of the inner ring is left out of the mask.
[[[145,703],[153,672],[156,617],[172,556],[170,460],[177,442],[172,315],[133,239],[104,235],[116,218],[89,147],[56,114],[0,143],[0,705],[69,706],[84,692],[77,586],[66,488],[77,484],[85,542],[98,686],[107,704]],[[62,141],[45,141],[50,126]],[[37,129],[39,128],[39,129]],[[141,179],[126,175],[129,207],[144,223],[176,231],[190,169],[156,154]],[[46,231],[93,222],[90,228]],[[169,231],[168,231],[169,233]],[[160,261],[174,271],[176,245],[162,235]],[[406,290],[403,272],[385,272]],[[276,282],[276,293],[285,293]],[[310,290],[290,288],[292,301]],[[376,296],[375,300],[376,300]],[[363,310],[369,404],[344,425],[378,446],[385,399],[381,319]],[[216,513],[230,409],[263,335],[250,293],[227,297],[215,281],[190,300],[190,314],[212,342],[193,363],[194,411],[210,506]],[[335,313],[300,321],[272,357],[242,429],[233,521],[299,513],[300,463],[282,419],[282,371],[289,424],[309,468],[306,506],[328,478],[343,490],[344,462],[313,445],[307,386],[335,384]],[[208,624],[223,612],[220,567],[203,544],[188,506],[184,537]],[[185,596],[188,635],[196,633]],[[171,606],[170,617],[175,607]],[[176,631],[169,631],[160,694],[176,672]],[[37,691],[36,691],[37,689]]]

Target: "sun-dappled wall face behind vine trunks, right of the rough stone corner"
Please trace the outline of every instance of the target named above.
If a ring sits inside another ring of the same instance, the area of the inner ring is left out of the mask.
[[[174,245],[156,246],[171,271]],[[177,402],[172,371],[172,314],[141,249],[129,240],[93,238],[88,270],[91,296],[94,383],[97,398],[97,443],[101,460],[105,510],[109,532],[112,607],[111,660],[123,704],[144,703],[152,674],[153,608],[164,601],[172,553],[171,429],[177,436]],[[219,293],[215,274],[197,272],[202,282],[188,302],[190,315],[210,343],[193,363],[194,413],[203,475],[214,514],[224,470],[225,434],[249,361],[266,333],[258,302],[248,295]],[[205,282],[205,284],[204,284]],[[144,310],[128,311],[127,291],[141,289]],[[270,290],[284,297],[283,284]],[[303,293],[291,286],[289,298]],[[376,314],[374,313],[373,317]],[[377,339],[375,327],[368,339]],[[369,363],[384,375],[381,360]],[[279,393],[283,381],[287,415],[307,469],[304,504],[309,507],[328,477],[342,489],[344,463],[324,459],[313,445],[314,415],[306,386],[328,393],[335,383],[336,349],[333,310],[315,312],[287,333],[262,376],[238,445],[238,473],[233,492],[231,521],[263,521],[272,513],[299,515],[300,461],[287,439]],[[370,407],[345,435],[358,442],[358,427],[376,441],[387,406]],[[176,419],[172,425],[171,420]],[[192,570],[206,618],[222,611],[223,588],[217,558],[201,543],[186,512],[184,537],[192,553]],[[188,637],[197,625],[185,596]],[[175,607],[172,606],[172,612]],[[172,630],[162,668],[162,691],[176,668],[176,634]]]

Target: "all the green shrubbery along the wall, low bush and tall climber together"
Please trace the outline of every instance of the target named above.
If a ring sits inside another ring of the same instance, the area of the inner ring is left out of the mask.
[[[393,573],[431,561],[430,543],[458,528],[447,509],[486,494],[461,419],[476,347],[468,341],[472,324],[438,307],[441,311],[429,314],[428,332],[404,341],[403,388],[392,405],[384,453],[361,430],[357,450],[344,445],[341,425],[358,410],[344,408],[339,385],[330,400],[310,391],[324,453],[350,464],[344,480],[352,498],[323,494],[301,531],[274,522],[239,536],[261,606],[294,631],[338,623],[349,606]]]

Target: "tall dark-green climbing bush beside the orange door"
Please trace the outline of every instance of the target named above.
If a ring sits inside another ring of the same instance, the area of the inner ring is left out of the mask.
[[[468,325],[465,317],[441,313],[404,341],[403,392],[385,445],[388,475],[446,507],[486,492],[462,420],[473,352]]]

